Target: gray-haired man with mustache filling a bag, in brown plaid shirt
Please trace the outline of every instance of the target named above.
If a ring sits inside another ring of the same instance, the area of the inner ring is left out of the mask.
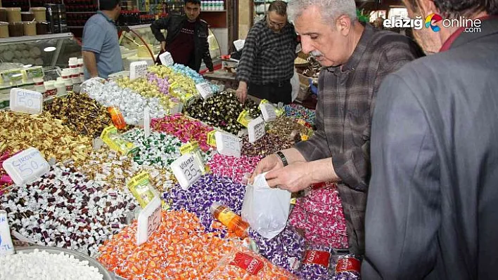
[[[321,66],[317,130],[309,140],[265,157],[253,177],[298,192],[337,182],[350,251],[364,253],[364,214],[370,179],[370,124],[381,81],[423,55],[407,36],[363,26],[354,0],[291,0],[288,13],[302,51]]]

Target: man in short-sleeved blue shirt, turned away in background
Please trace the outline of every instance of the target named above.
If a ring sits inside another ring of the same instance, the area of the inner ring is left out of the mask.
[[[120,42],[115,20],[119,18],[119,0],[101,0],[100,11],[87,20],[83,29],[82,56],[85,79],[122,71]]]

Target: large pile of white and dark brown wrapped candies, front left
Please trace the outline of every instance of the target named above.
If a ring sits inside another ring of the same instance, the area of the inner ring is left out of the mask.
[[[103,190],[72,168],[55,166],[32,185],[1,197],[8,224],[41,246],[70,248],[95,255],[98,246],[127,224],[134,197]]]

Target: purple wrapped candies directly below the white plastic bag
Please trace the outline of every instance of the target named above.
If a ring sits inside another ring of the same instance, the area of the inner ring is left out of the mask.
[[[260,255],[289,272],[297,272],[299,261],[305,251],[305,239],[293,227],[286,227],[273,239],[265,239],[254,229],[249,229],[248,233],[259,247]]]

